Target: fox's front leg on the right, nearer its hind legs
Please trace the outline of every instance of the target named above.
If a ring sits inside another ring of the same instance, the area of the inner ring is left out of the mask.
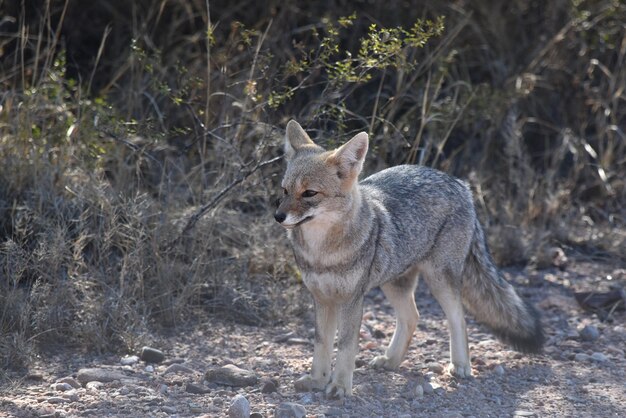
[[[337,364],[326,395],[343,398],[352,395],[354,359],[359,350],[359,329],[363,316],[363,300],[353,300],[339,308],[339,340],[337,342]]]

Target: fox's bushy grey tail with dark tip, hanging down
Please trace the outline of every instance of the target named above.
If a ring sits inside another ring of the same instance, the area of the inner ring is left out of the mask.
[[[541,351],[544,335],[539,312],[520,298],[496,268],[478,220],[465,261],[462,296],[467,311],[504,343],[517,351]]]

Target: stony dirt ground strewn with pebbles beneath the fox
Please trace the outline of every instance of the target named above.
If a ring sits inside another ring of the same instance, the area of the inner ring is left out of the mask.
[[[601,320],[602,315],[583,310],[573,297],[576,291],[602,292],[612,284],[623,285],[623,266],[577,260],[564,270],[509,270],[506,275],[527,285],[520,292],[543,313],[544,353],[510,351],[468,318],[471,379],[459,380],[444,371],[445,319],[420,283],[420,324],[407,359],[395,372],[367,365],[384,350],[394,327],[382,293],[368,295],[354,395],[344,400],[294,391],[294,380],[310,367],[313,324],[308,314],[263,328],[213,321],[160,336],[154,345],[165,353],[165,361],[156,365],[133,359],[122,365],[119,356],[81,353],[42,358],[27,378],[3,385],[0,416],[247,416],[245,405],[241,410],[231,407],[238,394],[256,418],[299,416],[303,410],[307,417],[626,416],[626,313],[616,310]],[[227,364],[249,370],[258,379],[244,387],[205,379],[206,370]],[[77,385],[82,368],[121,377]],[[57,383],[65,377],[69,379],[62,382],[69,383]],[[297,405],[284,405],[287,402]],[[277,413],[281,405],[291,415]]]

